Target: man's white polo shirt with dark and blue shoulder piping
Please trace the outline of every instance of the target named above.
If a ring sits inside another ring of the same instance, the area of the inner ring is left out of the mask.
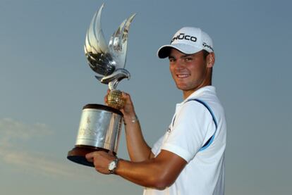
[[[201,103],[190,99],[198,99]],[[224,194],[225,146],[224,109],[217,98],[215,87],[202,87],[176,105],[169,130],[152,148],[155,156],[161,150],[171,151],[188,164],[171,187],[162,191],[145,188],[144,195]]]

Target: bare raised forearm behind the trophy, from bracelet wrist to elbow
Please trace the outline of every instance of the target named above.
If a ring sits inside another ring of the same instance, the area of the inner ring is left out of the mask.
[[[150,158],[151,149],[147,145],[138,118],[128,116],[124,118],[126,143],[131,161],[140,162]]]

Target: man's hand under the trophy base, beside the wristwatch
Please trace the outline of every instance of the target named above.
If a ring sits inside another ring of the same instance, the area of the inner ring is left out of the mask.
[[[87,153],[85,158],[87,161],[93,163],[95,165],[95,170],[102,174],[110,174],[109,172],[109,163],[114,161],[116,158],[111,153],[107,153],[105,151],[95,151],[92,153]]]

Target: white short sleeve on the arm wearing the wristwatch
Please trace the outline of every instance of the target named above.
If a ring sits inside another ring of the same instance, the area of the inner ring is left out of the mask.
[[[200,151],[212,124],[212,115],[197,101],[188,101],[176,113],[174,125],[162,149],[176,153],[189,162]]]

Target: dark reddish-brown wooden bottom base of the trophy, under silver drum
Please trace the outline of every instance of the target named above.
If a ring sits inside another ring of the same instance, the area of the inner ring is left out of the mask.
[[[107,149],[97,148],[97,147],[93,147],[93,146],[78,145],[78,146],[75,146],[71,151],[68,151],[67,159],[70,161],[73,161],[74,163],[86,165],[89,167],[95,167],[95,165],[93,165],[93,163],[90,163],[85,158],[85,155],[87,153],[91,153],[94,151],[109,152],[109,150],[107,150]],[[114,154],[114,156],[116,156],[115,152],[113,152],[113,154]]]

